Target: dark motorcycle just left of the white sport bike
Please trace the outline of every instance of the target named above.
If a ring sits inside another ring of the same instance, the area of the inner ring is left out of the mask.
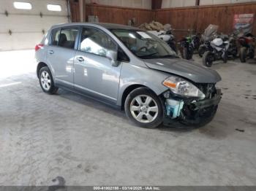
[[[193,56],[194,50],[198,50],[200,45],[200,38],[198,35],[191,35],[181,39],[181,57],[190,60]]]

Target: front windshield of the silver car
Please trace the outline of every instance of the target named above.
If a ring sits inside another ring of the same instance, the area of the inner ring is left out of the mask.
[[[154,34],[126,29],[113,29],[111,31],[139,58],[177,58],[176,52]]]

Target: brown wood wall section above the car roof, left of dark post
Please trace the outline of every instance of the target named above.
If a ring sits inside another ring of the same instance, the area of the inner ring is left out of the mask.
[[[136,26],[154,20],[154,12],[150,9],[135,9],[126,7],[111,7],[96,4],[86,4],[86,18],[97,15],[101,23],[118,23],[127,25],[128,20],[136,18]]]

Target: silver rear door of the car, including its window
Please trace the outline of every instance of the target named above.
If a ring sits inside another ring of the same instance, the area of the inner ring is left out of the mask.
[[[73,67],[78,26],[53,29],[47,52],[47,63],[53,70],[56,84],[73,87]]]

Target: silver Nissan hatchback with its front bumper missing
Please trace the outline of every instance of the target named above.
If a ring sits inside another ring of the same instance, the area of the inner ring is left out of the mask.
[[[124,109],[140,127],[201,126],[217,111],[221,77],[178,58],[139,28],[108,23],[53,26],[35,47],[45,93],[59,87]]]

